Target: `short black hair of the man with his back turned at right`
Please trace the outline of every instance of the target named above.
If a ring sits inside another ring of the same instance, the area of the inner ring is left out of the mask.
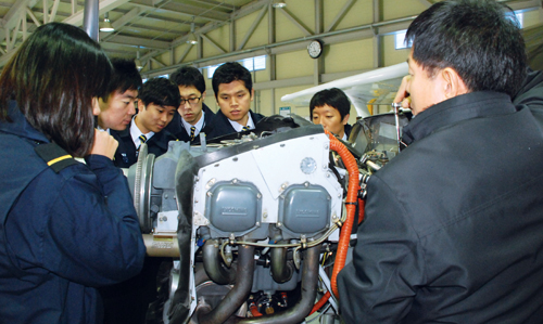
[[[451,67],[469,91],[516,94],[526,76],[525,41],[515,13],[493,0],[446,0],[407,29],[413,59],[430,76]]]

